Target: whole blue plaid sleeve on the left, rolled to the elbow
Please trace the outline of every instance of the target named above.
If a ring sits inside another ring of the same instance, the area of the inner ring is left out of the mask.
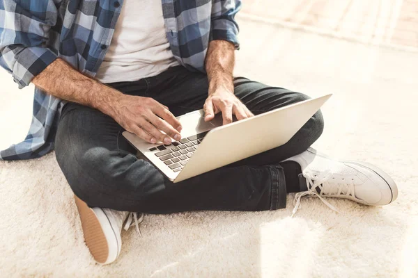
[[[61,0],[0,1],[0,66],[23,88],[57,55],[46,47]]]

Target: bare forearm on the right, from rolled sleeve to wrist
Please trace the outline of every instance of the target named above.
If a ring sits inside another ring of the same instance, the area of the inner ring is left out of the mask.
[[[206,54],[209,94],[219,88],[233,92],[233,67],[235,66],[235,47],[225,40],[212,40]]]

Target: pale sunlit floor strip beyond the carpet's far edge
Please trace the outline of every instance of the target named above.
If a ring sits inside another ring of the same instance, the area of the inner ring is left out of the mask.
[[[418,47],[417,0],[245,0],[242,13],[339,38]]]

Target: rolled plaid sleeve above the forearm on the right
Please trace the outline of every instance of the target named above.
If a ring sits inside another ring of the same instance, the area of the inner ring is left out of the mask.
[[[239,27],[235,15],[241,8],[240,0],[213,0],[210,22],[210,40],[226,40],[240,49]]]

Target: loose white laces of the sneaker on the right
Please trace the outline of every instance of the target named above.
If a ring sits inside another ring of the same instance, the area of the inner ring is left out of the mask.
[[[330,182],[330,179],[332,179],[332,172],[327,171],[325,172],[325,176],[321,177],[312,177],[309,173],[304,172],[303,173],[305,179],[307,180],[307,191],[302,191],[299,193],[295,194],[295,199],[293,199],[293,206],[295,206],[293,208],[292,211],[292,217],[293,215],[295,215],[295,213],[297,212],[297,210],[301,207],[300,204],[300,199],[303,196],[311,196],[311,197],[318,197],[324,204],[326,204],[329,208],[331,208],[333,211],[336,211],[337,213],[339,213],[339,211],[332,206],[332,204],[330,204],[329,202],[327,202],[322,196],[323,195],[332,195],[331,193],[334,192],[334,187],[337,187],[337,193],[336,195],[352,195],[354,196],[354,183],[353,181],[350,181],[350,183],[333,183]],[[327,190],[329,193],[326,193],[324,190],[324,187],[328,186],[329,188],[331,188],[330,190]],[[319,188],[320,193],[318,193],[318,191],[316,190],[316,188]],[[343,193],[343,189],[345,189],[344,191],[346,191],[346,193]],[[343,193],[343,194],[341,194]]]

